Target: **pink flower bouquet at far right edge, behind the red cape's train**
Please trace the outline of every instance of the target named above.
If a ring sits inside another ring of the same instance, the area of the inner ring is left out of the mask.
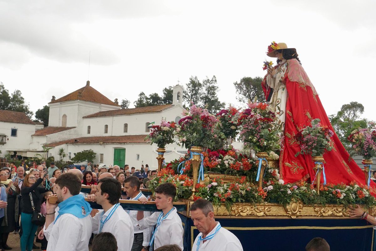
[[[359,128],[351,132],[347,138],[355,154],[371,159],[376,156],[376,129]]]

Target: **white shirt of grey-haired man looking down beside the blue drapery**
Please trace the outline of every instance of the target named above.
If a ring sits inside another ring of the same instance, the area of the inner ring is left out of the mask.
[[[213,230],[207,235],[214,234],[215,229],[218,227],[219,222],[215,222],[217,225],[213,228]],[[199,236],[202,237],[202,233],[194,240],[192,251],[197,250],[197,242],[199,241]],[[221,227],[220,230],[215,234],[212,239],[206,240],[205,243],[201,241],[200,243],[200,250],[205,251],[243,251],[243,247],[239,239],[235,236],[235,234],[231,233],[226,228]]]

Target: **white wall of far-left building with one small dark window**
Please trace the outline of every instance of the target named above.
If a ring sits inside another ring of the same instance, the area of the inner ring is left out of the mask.
[[[11,128],[17,128],[17,137],[11,137]],[[7,135],[6,144],[0,145],[2,155],[8,154],[9,150],[27,151],[31,143],[31,135],[34,133],[35,125],[0,122],[0,134]]]

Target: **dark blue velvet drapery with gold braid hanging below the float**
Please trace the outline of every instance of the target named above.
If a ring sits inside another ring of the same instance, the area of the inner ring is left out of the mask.
[[[180,214],[184,251],[191,251],[199,231]],[[332,251],[375,251],[374,229],[360,219],[216,219],[234,233],[244,251],[305,250],[314,237],[324,238]]]

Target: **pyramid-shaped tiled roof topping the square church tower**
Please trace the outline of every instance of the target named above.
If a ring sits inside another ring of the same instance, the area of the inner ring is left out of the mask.
[[[109,100],[107,97],[105,97],[102,93],[100,93],[96,89],[92,88],[89,85],[89,83],[86,84],[84,87],[65,95],[64,97],[61,97],[56,100],[52,100],[50,103],[58,103],[58,102],[65,102],[65,101],[71,101],[71,100],[83,100],[83,101],[89,101],[89,102],[100,103],[100,104],[105,104],[105,105],[120,106],[120,105],[115,104],[111,100]]]

